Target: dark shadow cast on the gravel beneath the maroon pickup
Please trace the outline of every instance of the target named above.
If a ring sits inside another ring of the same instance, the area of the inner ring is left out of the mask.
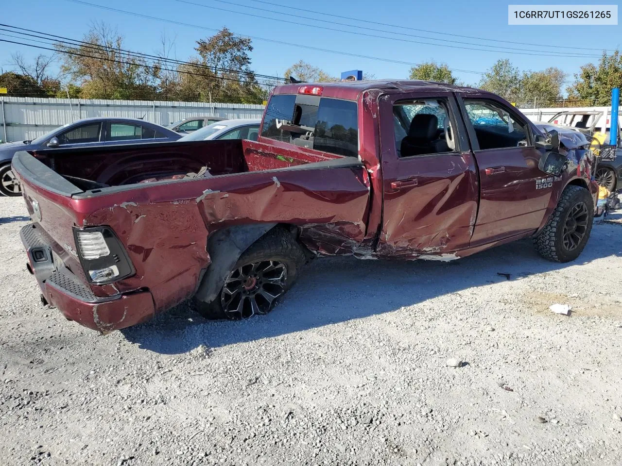
[[[426,299],[507,280],[498,273],[509,273],[511,281],[521,280],[602,257],[621,257],[620,234],[620,226],[595,225],[581,257],[565,264],[539,257],[529,240],[453,262],[323,258],[305,268],[294,288],[266,316],[236,322],[207,321],[182,304],[122,332],[141,348],[162,354],[179,354],[202,344],[213,348],[278,337],[388,313]]]

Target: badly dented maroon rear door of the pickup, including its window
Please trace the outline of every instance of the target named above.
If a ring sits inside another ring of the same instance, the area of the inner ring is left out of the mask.
[[[451,258],[468,247],[478,204],[475,161],[453,93],[380,99],[380,126],[378,255]]]

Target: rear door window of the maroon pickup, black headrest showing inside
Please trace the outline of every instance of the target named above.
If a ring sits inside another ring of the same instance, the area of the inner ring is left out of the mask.
[[[444,99],[398,101],[393,106],[393,126],[398,157],[456,150]]]

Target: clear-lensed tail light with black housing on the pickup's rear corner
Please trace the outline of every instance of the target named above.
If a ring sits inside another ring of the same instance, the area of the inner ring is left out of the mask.
[[[89,283],[105,285],[134,275],[123,245],[109,227],[73,229],[78,258]]]

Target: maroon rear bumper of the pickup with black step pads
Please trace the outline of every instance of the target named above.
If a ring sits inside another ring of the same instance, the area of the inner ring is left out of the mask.
[[[37,278],[45,300],[67,319],[109,332],[153,317],[154,301],[149,291],[95,296],[54,254],[51,241],[40,227],[28,224],[21,229],[20,236],[26,247],[29,271]]]

